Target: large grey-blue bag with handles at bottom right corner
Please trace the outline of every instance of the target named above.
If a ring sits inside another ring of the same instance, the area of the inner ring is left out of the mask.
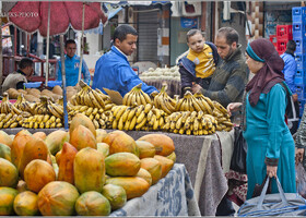
[[[267,179],[260,196],[250,198],[240,206],[239,217],[306,215],[306,199],[297,193],[284,193],[279,178],[276,185],[280,193],[267,194],[269,181],[270,178]]]

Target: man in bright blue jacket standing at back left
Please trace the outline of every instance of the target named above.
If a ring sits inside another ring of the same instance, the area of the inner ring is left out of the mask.
[[[64,56],[64,70],[66,70],[66,86],[75,86],[79,80],[79,69],[80,69],[80,57],[75,55],[76,44],[74,40],[69,39],[64,45],[66,56]],[[83,81],[90,85],[91,73],[85,61],[82,61],[82,74]],[[62,81],[61,77],[61,61],[58,64],[57,80]]]

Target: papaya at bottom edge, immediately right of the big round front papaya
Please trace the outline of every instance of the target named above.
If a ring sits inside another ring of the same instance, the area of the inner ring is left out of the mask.
[[[84,192],[75,202],[75,210],[81,216],[108,216],[111,211],[108,199],[95,191]]]

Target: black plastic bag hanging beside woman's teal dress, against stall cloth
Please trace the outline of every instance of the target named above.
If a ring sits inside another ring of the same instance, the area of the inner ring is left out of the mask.
[[[234,150],[229,169],[246,174],[247,172],[247,142],[240,126],[234,128]]]

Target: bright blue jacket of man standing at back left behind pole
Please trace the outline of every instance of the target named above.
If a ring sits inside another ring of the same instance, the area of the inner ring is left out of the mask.
[[[64,56],[64,69],[66,69],[66,86],[75,86],[78,84],[80,57],[74,55],[72,58]],[[82,74],[83,81],[90,85],[91,73],[84,60],[82,60]],[[58,63],[57,80],[61,78],[61,61]]]

